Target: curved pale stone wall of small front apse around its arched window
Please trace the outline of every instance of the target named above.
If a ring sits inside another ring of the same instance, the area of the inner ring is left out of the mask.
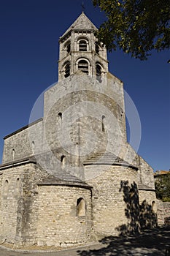
[[[77,216],[77,200],[85,200],[85,216]],[[64,246],[87,241],[91,232],[90,190],[39,186],[37,244]]]

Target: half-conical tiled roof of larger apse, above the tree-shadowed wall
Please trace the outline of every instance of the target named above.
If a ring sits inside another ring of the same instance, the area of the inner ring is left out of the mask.
[[[92,157],[83,162],[83,165],[122,165],[125,167],[131,167],[135,170],[138,170],[136,166],[129,164],[120,157],[117,157],[115,154],[112,154],[111,152],[108,151],[101,151],[96,154],[93,154]]]

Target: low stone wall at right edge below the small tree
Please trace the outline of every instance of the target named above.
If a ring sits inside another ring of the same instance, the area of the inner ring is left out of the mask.
[[[165,224],[165,218],[170,217],[170,202],[157,200],[158,225]]]

